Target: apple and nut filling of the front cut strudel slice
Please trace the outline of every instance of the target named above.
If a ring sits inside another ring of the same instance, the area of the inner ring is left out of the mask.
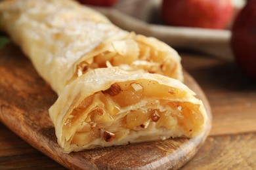
[[[185,95],[154,80],[116,82],[84,99],[68,116],[64,130],[75,133],[67,141],[79,146],[96,146],[102,142],[115,144],[131,137],[141,142],[146,140],[146,135],[159,131],[161,139],[181,134],[192,137],[200,131],[203,117],[200,105],[175,101]]]

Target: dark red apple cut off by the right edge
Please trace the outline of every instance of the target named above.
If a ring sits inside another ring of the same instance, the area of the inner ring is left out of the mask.
[[[256,78],[256,0],[249,0],[234,20],[231,46],[238,65]]]

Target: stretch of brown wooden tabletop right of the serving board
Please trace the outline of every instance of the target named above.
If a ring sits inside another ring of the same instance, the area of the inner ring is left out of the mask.
[[[210,137],[182,169],[256,169],[256,82],[236,63],[182,53],[213,113]]]

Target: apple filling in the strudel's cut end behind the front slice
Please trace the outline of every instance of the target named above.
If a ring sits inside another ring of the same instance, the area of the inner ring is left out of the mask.
[[[126,71],[146,71],[177,78],[177,62],[165,50],[157,50],[145,41],[140,36],[136,40],[114,41],[108,50],[102,50],[93,58],[79,63],[75,76],[81,76],[91,69],[117,66]]]

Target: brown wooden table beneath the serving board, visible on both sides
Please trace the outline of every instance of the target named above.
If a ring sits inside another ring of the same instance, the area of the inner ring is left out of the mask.
[[[234,63],[182,52],[213,112],[211,136],[182,169],[256,169],[256,82]],[[0,169],[64,169],[0,123]]]

